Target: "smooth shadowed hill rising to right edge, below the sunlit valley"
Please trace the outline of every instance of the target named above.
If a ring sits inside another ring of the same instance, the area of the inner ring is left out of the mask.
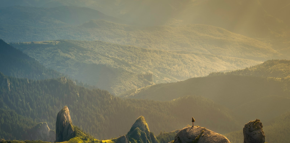
[[[197,95],[225,105],[243,116],[245,122],[255,118],[269,122],[290,107],[289,75],[280,72],[287,69],[288,63],[289,60],[269,60],[244,70],[147,86],[127,91],[121,97],[168,101]]]

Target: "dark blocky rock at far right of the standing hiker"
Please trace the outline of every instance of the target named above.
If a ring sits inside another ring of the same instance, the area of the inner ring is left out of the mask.
[[[248,122],[243,129],[244,143],[264,143],[265,133],[259,119]]]

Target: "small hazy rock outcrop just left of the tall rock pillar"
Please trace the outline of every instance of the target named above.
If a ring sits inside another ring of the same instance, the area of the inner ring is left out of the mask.
[[[29,140],[41,140],[44,142],[54,142],[55,132],[50,130],[47,123],[38,123],[33,128],[28,130]]]

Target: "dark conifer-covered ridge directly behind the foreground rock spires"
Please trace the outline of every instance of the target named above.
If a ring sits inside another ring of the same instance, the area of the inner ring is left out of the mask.
[[[191,96],[166,102],[121,99],[104,90],[76,86],[65,77],[27,80],[0,74],[0,81],[1,109],[15,111],[19,116],[31,118],[34,122],[47,122],[49,128],[54,129],[58,110],[67,105],[74,125],[97,139],[126,134],[134,120],[141,115],[146,117],[150,130],[155,133],[182,128],[191,123],[193,115],[199,120],[197,125],[219,133],[238,130],[241,126],[240,119],[234,113],[203,97]],[[10,118],[5,116],[4,119],[17,120],[8,117]],[[1,131],[7,124],[4,119],[1,119]],[[3,130],[5,133],[1,133],[0,137],[18,137],[12,134],[17,133],[14,129],[18,128],[11,129],[12,131],[9,128]]]

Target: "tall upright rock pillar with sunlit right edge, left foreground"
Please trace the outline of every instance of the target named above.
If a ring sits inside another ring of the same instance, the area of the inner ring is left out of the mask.
[[[55,141],[64,142],[73,138],[73,135],[74,129],[70,119],[70,111],[68,107],[65,106],[57,114]]]

